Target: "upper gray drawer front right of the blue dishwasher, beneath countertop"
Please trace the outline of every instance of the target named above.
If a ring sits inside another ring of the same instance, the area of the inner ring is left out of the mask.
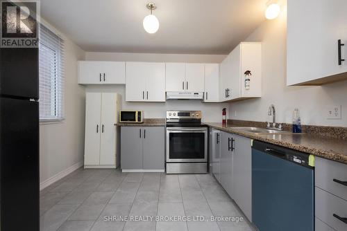
[[[344,198],[347,201],[347,186],[336,182],[347,182],[346,164],[323,158],[316,158],[315,181],[317,187]]]

